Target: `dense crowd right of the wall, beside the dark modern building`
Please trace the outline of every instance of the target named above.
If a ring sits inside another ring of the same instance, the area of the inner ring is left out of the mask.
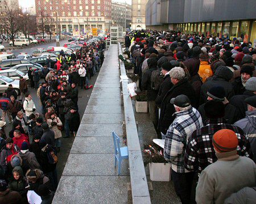
[[[181,203],[255,203],[252,42],[142,30],[126,33],[125,48]]]

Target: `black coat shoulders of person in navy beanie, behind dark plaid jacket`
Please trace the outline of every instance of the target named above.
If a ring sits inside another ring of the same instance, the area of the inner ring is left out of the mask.
[[[200,105],[200,107],[198,108],[198,111],[201,114],[203,123],[205,125],[205,121],[208,118],[205,116],[204,105],[205,105],[205,103]],[[234,105],[227,103],[227,104],[225,104],[224,118],[225,118],[227,124],[233,125],[236,121],[241,119],[241,114],[240,114],[240,111],[238,111],[238,109]]]

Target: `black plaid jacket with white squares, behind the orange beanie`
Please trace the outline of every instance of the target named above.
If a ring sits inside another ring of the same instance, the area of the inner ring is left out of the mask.
[[[194,131],[188,139],[184,157],[184,166],[188,171],[196,171],[200,176],[201,171],[217,161],[212,145],[212,137],[216,131],[221,129],[233,130],[237,134],[238,155],[253,158],[248,137],[241,128],[225,124],[223,118],[208,119],[206,124],[203,128]]]

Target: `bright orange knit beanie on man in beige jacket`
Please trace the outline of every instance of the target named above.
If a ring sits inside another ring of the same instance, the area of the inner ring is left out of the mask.
[[[218,152],[230,152],[237,149],[238,139],[233,130],[222,129],[214,133],[212,145]]]

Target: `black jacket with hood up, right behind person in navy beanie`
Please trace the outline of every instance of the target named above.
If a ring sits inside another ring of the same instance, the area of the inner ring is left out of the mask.
[[[201,86],[200,104],[207,102],[207,92],[214,86],[224,87],[225,96],[229,100],[234,95],[232,83],[229,82],[232,77],[233,73],[230,69],[228,69],[228,67],[219,66],[216,69],[213,77]]]

